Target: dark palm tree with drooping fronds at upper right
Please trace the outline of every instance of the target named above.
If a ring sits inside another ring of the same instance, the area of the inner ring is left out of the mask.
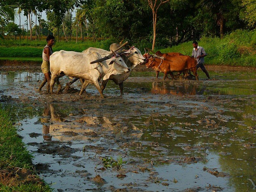
[[[202,0],[203,6],[210,11],[220,26],[220,38],[224,36],[225,13],[227,12],[228,0]]]

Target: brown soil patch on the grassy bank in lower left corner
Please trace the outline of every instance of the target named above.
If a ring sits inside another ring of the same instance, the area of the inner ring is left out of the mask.
[[[33,183],[44,185],[44,183],[33,172],[27,169],[2,169],[0,170],[0,183],[4,186],[13,187],[20,184]]]

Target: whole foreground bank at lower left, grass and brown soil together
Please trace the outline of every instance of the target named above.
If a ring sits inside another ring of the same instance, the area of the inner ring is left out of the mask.
[[[0,191],[52,191],[33,171],[33,156],[1,106],[0,132]]]

